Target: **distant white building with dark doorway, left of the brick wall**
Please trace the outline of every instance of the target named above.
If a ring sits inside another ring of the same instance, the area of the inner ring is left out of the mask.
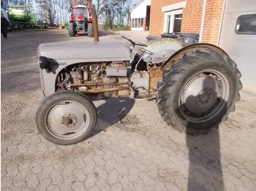
[[[140,1],[129,12],[131,14],[131,31],[148,31],[151,0]]]

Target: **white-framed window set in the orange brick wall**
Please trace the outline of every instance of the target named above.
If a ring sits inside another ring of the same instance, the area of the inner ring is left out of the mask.
[[[181,31],[182,9],[165,12],[164,33],[176,33]]]

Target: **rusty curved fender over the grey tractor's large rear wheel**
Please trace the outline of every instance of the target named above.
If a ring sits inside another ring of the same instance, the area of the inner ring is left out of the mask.
[[[161,70],[165,71],[167,69],[170,69],[170,66],[173,62],[178,61],[181,59],[185,54],[189,54],[191,52],[194,52],[195,50],[215,50],[217,52],[221,52],[224,55],[227,55],[227,52],[222,50],[220,47],[215,46],[214,44],[208,44],[208,43],[197,43],[192,44],[187,47],[181,48],[177,52],[175,52],[165,63],[162,64]],[[227,55],[228,56],[228,55]]]

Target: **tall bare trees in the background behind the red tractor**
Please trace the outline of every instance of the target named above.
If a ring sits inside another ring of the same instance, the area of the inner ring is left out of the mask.
[[[35,1],[35,9],[39,20],[45,23],[67,24],[69,21],[69,7],[75,5],[75,0],[9,0],[9,5],[31,4]],[[89,0],[76,0],[77,4],[88,4]],[[91,0],[95,4],[99,23],[104,23],[106,29],[129,26],[129,10],[139,0]],[[1,6],[7,5],[8,0],[1,0]]]

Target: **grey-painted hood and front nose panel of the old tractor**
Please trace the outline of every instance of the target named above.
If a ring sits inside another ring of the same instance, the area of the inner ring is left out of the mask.
[[[42,91],[46,97],[55,93],[55,82],[59,72],[74,63],[106,61],[130,61],[129,47],[122,42],[72,42],[40,44],[38,56],[54,59],[59,66],[56,71],[46,73],[39,69]]]

